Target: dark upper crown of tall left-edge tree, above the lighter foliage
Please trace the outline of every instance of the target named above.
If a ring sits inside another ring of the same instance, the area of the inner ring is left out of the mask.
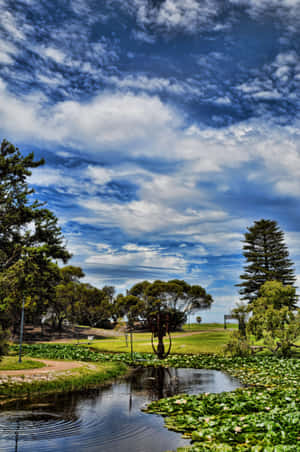
[[[0,148],[0,271],[20,259],[24,249],[38,246],[47,257],[66,262],[71,256],[63,243],[57,218],[39,201],[31,201],[31,169],[44,164],[31,152],[23,157],[3,140]]]

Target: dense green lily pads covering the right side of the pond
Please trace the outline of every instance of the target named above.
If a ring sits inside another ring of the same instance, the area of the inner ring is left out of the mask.
[[[227,371],[248,385],[230,393],[180,395],[153,402],[148,412],[166,416],[166,427],[192,439],[191,448],[179,450],[299,450],[299,360],[186,356],[168,361],[173,366]]]

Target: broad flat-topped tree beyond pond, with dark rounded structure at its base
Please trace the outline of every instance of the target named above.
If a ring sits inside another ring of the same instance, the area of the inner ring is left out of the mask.
[[[185,281],[168,282],[143,281],[134,285],[126,296],[119,296],[117,304],[121,315],[126,314],[131,324],[142,321],[152,331],[152,339],[157,337],[157,348],[152,340],[153,350],[160,359],[170,352],[170,332],[182,325],[189,312],[207,309],[213,302],[201,286],[190,286]],[[163,339],[169,336],[169,350],[165,350]]]

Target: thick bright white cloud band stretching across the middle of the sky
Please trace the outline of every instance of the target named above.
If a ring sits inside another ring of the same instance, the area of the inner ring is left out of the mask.
[[[285,65],[288,60],[295,60],[293,55],[278,58]],[[197,196],[202,197],[201,201],[206,198],[197,188],[199,180],[210,180],[212,174],[221,175],[226,168],[239,168],[249,162],[263,162],[265,180],[269,179],[281,193],[293,194],[299,186],[300,134],[296,119],[294,126],[278,126],[270,120],[249,120],[226,129],[186,127],[180,112],[156,96],[111,92],[89,102],[65,101],[45,109],[45,96],[35,93],[17,98],[1,81],[0,100],[0,127],[8,138],[30,139],[33,144],[72,146],[100,161],[102,154],[109,152],[126,159],[147,157],[181,162],[174,174],[157,177],[140,169],[135,176],[133,167],[118,168],[119,174],[96,165],[87,169],[86,176],[94,185],[103,185],[116,177],[130,177],[140,185],[141,200],[129,206],[131,213],[127,217],[122,214],[124,225],[130,223],[132,217],[145,215],[153,230],[159,224],[164,225],[160,217],[166,214],[174,218],[173,222],[176,219],[178,224],[186,224],[185,218],[191,220],[194,215],[186,210],[182,218],[182,214],[176,214],[176,208],[175,212],[172,209],[178,202],[195,201]],[[259,170],[257,176],[260,176]],[[255,178],[255,173],[251,177]],[[153,193],[161,202],[158,210],[156,204],[151,203]],[[209,203],[204,207],[205,211],[208,208],[215,212],[220,210]],[[100,210],[102,208],[105,209],[100,206]],[[136,223],[134,221],[131,228],[137,227]],[[138,229],[147,230],[144,222]]]

